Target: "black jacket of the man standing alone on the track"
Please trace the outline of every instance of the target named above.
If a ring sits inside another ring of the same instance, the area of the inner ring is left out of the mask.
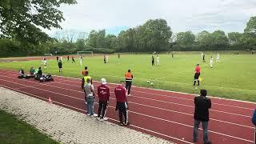
[[[194,98],[194,119],[202,122],[209,121],[209,109],[211,102],[209,98],[199,96]]]

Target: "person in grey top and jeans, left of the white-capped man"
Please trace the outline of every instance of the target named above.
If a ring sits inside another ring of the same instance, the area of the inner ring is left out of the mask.
[[[97,116],[97,114],[94,114],[94,102],[95,102],[94,85],[91,84],[90,78],[87,78],[85,92],[86,92],[86,101],[87,101],[87,115],[90,115],[91,117]]]

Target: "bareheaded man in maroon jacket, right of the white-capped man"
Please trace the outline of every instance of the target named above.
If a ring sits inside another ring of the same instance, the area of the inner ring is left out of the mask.
[[[114,94],[116,96],[117,104],[115,110],[118,110],[119,114],[119,122],[120,126],[122,125],[129,125],[128,122],[128,103],[127,103],[127,94],[126,94],[126,88],[125,88],[125,82],[121,81],[120,85],[115,87]],[[125,118],[125,122],[122,121],[122,115]]]

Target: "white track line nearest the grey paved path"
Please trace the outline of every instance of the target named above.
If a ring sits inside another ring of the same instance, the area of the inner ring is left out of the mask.
[[[1,85],[1,84],[0,84],[0,86],[6,87],[7,89],[10,89],[10,90],[15,90],[14,88],[10,88],[9,86],[3,86],[3,85]],[[22,91],[22,90],[16,90],[16,92],[17,92],[17,91],[20,92],[20,93],[27,94],[27,95],[30,95],[30,96],[34,96],[34,97],[36,97],[36,98],[41,98],[41,99],[44,99],[44,100],[47,101],[46,98],[42,98],[42,97],[40,97],[40,96],[38,96],[38,95],[26,93],[25,91]],[[66,105],[66,104],[61,103],[61,102],[56,102],[56,101],[52,101],[52,102],[58,103],[59,105],[62,105],[62,106],[67,106],[67,107],[73,108],[73,109],[75,109],[75,110],[80,110],[80,111],[86,112],[86,110],[82,110],[82,109],[79,109],[79,108],[74,107],[74,106],[69,106],[69,105]],[[118,120],[115,120],[115,119],[113,119],[113,118],[109,118],[109,119],[112,120],[112,121],[114,121],[114,122],[118,122]],[[174,138],[174,137],[171,137],[171,136],[166,135],[166,134],[158,133],[158,132],[156,132],[156,131],[154,131],[154,130],[148,130],[148,129],[142,128],[142,127],[140,127],[140,126],[135,126],[135,125],[133,125],[133,124],[130,124],[130,126],[135,127],[135,128],[138,128],[138,129],[140,129],[140,130],[146,130],[146,131],[151,132],[151,133],[154,133],[154,134],[162,135],[162,136],[164,136],[164,137],[166,137],[166,138],[172,138],[172,139],[178,140],[178,141],[180,141],[180,142],[186,142],[186,143],[189,143],[189,144],[194,144],[194,143],[192,143],[192,142],[187,142],[187,141],[182,140],[182,139],[179,139],[179,138]]]

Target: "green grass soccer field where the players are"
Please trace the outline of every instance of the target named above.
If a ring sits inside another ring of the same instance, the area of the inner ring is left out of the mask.
[[[146,86],[162,90],[174,90],[198,94],[200,89],[208,90],[208,95],[256,102],[256,56],[252,54],[221,54],[221,62],[215,62],[210,68],[210,54],[206,54],[206,63],[202,63],[200,54],[160,54],[160,66],[151,66],[150,54],[126,54],[118,58],[117,54],[109,56],[109,63],[104,64],[102,56],[83,58],[83,66],[67,62],[63,58],[63,72],[58,73],[55,59],[48,60],[47,70],[43,73],[82,78],[84,66],[89,67],[94,80],[106,78],[107,82],[119,82],[130,69],[134,74],[134,86]],[[29,71],[30,66],[41,66],[42,61],[1,62],[0,69]],[[195,89],[194,67],[201,64],[201,86]],[[153,82],[150,86],[147,81]]]

